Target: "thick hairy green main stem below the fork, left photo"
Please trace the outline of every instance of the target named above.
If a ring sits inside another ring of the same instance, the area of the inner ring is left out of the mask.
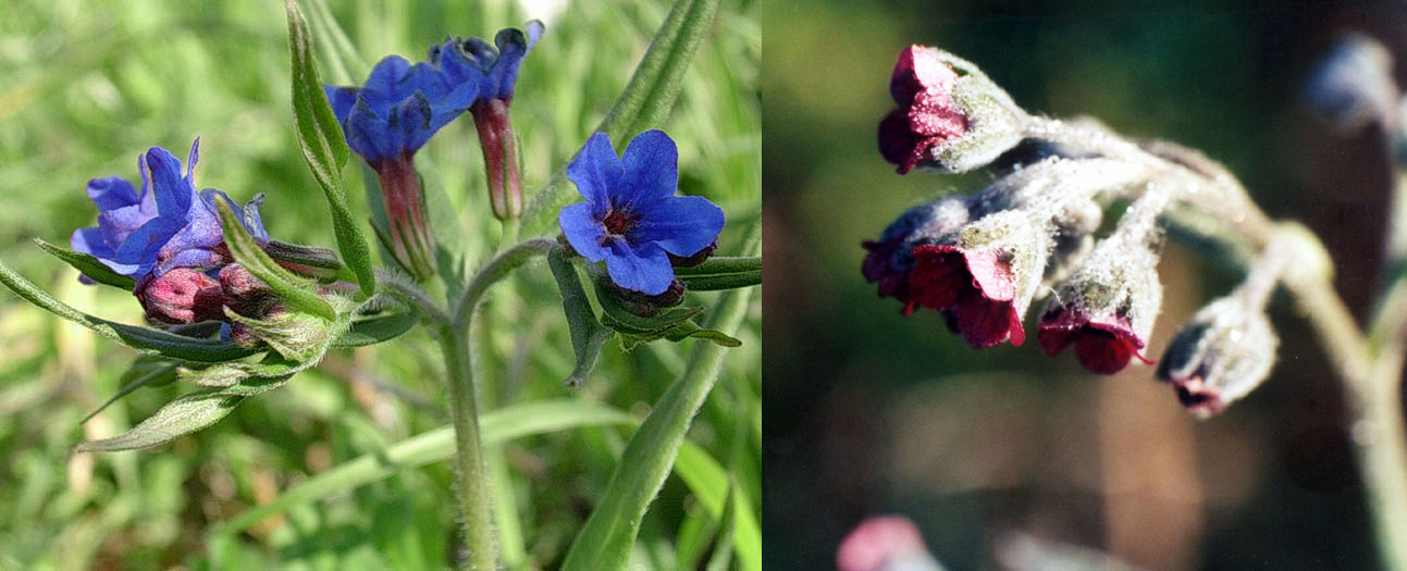
[[[459,512],[464,533],[464,568],[492,571],[498,567],[498,546],[494,539],[488,470],[484,467],[483,439],[478,433],[478,405],[474,395],[474,374],[469,354],[466,328],[440,328],[440,347],[449,377],[450,412],[454,423]]]

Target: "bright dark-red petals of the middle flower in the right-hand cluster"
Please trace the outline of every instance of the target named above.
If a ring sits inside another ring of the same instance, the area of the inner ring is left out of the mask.
[[[976,347],[1007,338],[1026,342],[1012,266],[996,248],[961,249],[953,245],[917,246],[909,273],[909,311],[913,304],[951,311],[950,325]]]

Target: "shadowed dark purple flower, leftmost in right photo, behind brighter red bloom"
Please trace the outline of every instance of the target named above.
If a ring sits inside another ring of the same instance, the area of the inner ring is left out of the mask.
[[[860,271],[868,281],[879,283],[879,297],[893,297],[903,304],[903,314],[916,308],[909,294],[909,271],[913,270],[913,249],[937,243],[962,229],[969,221],[967,197],[938,198],[909,208],[879,235],[879,240],[865,240],[870,250]]]

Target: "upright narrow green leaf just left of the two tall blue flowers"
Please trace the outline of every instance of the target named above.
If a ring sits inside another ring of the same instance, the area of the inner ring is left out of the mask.
[[[308,24],[294,0],[284,0],[288,13],[288,51],[293,56],[293,117],[298,146],[312,172],[312,179],[322,187],[332,211],[332,229],[338,238],[342,260],[357,276],[362,293],[376,291],[376,276],[371,269],[371,249],[356,225],[352,208],[348,205],[342,187],[342,166],[348,162],[348,145],[342,125],[332,114],[318,68],[312,56],[312,38]]]

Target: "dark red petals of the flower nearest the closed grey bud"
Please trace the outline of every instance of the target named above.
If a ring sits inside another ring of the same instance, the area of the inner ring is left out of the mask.
[[[1128,319],[1121,315],[1089,315],[1083,311],[1052,305],[1041,316],[1037,338],[1045,354],[1055,356],[1075,345],[1075,359],[1099,374],[1114,374],[1128,366],[1133,357],[1154,364],[1140,354],[1142,338],[1134,332]]]

